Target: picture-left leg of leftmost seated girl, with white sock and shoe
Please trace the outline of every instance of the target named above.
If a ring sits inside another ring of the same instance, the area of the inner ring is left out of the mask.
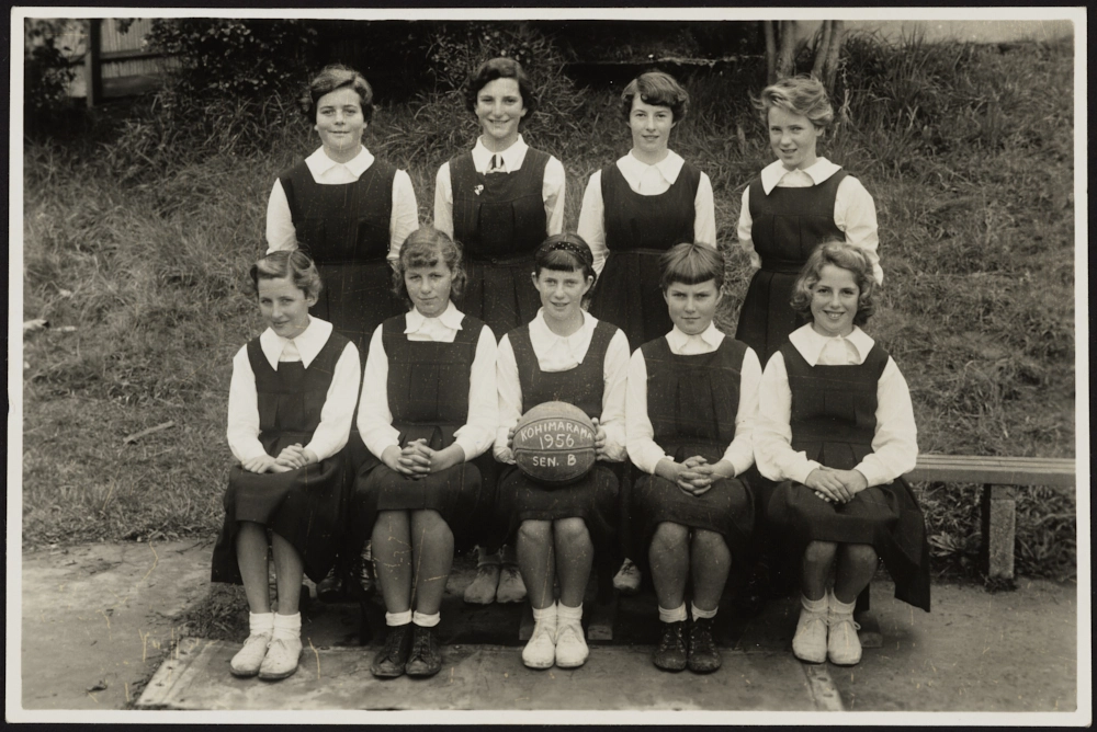
[[[255,522],[240,522],[236,535],[236,559],[248,595],[249,633],[244,648],[233,656],[229,670],[234,676],[249,677],[259,673],[267,645],[274,632],[268,581],[267,527]]]

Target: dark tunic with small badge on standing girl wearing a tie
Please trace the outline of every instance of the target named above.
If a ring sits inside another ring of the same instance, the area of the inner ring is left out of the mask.
[[[547,152],[529,148],[511,173],[477,173],[472,152],[450,160],[453,238],[464,248],[468,282],[462,312],[479,318],[501,339],[538,314],[530,283],[533,253],[545,239],[542,198]]]

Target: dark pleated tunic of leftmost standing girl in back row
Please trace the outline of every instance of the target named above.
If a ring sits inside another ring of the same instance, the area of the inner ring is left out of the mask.
[[[370,338],[386,318],[404,312],[388,264],[396,168],[375,160],[353,183],[320,185],[304,161],[279,175],[297,245],[324,279],[313,314],[349,338],[362,363]]]

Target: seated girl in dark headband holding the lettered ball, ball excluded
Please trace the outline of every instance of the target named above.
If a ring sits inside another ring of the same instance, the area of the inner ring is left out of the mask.
[[[617,500],[626,457],[624,397],[629,342],[617,327],[583,309],[595,284],[590,248],[572,233],[548,237],[538,249],[533,285],[541,310],[499,343],[499,431],[495,457],[513,464],[514,425],[546,401],[566,401],[595,422],[593,469],[579,481],[547,489],[517,467],[499,480],[500,507],[518,531],[518,562],[535,621],[522,651],[531,668],[581,666],[583,594],[593,552],[613,551]],[[559,604],[553,585],[559,581]]]

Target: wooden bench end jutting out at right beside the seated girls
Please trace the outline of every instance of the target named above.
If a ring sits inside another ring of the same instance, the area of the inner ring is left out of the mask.
[[[980,557],[986,575],[1014,579],[1014,537],[1018,485],[1044,485],[1075,495],[1073,458],[1015,458],[979,455],[919,455],[911,482],[979,483],[983,545]]]

